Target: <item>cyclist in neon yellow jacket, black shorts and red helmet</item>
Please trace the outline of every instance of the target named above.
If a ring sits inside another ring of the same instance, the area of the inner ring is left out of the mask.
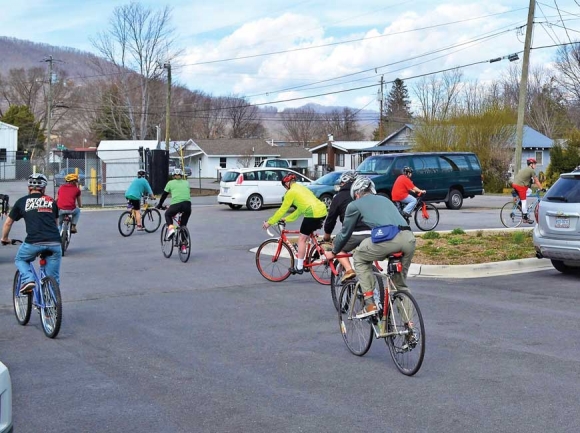
[[[296,221],[300,215],[304,215],[300,226],[300,236],[298,238],[298,261],[296,268],[290,268],[292,274],[302,274],[304,272],[304,257],[306,256],[306,243],[310,234],[322,227],[326,218],[326,205],[321,202],[312,191],[304,185],[296,183],[296,175],[289,173],[282,179],[282,185],[287,189],[282,201],[282,206],[268,221],[264,221],[262,228],[267,229],[278,221]],[[282,218],[286,212],[294,206],[296,210]]]

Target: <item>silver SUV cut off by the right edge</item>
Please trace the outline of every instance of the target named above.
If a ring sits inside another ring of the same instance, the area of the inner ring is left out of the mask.
[[[580,170],[561,174],[536,208],[538,258],[563,273],[580,273]]]

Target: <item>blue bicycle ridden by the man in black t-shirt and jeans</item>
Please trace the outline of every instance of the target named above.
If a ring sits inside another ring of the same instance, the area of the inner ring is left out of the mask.
[[[12,244],[19,241],[12,240]],[[21,243],[21,242],[20,242]],[[14,275],[14,284],[12,286],[12,294],[14,300],[14,314],[16,320],[22,326],[26,325],[30,320],[30,313],[32,305],[40,314],[40,321],[42,323],[42,330],[44,335],[48,338],[55,338],[60,331],[60,323],[62,321],[62,299],[60,297],[60,287],[53,277],[49,277],[45,273],[46,257],[51,255],[49,250],[41,251],[37,257],[40,258],[40,267],[37,271],[34,262],[30,263],[30,270],[34,275],[34,282],[36,283],[32,293],[20,294],[20,287],[22,285],[20,272],[16,271]]]

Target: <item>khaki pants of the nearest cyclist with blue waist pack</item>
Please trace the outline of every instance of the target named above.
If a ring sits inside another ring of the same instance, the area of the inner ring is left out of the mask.
[[[354,252],[353,263],[363,293],[372,291],[375,286],[373,262],[385,260],[390,254],[399,251],[403,252],[403,272],[393,276],[393,283],[397,289],[408,290],[407,274],[415,254],[415,235],[412,231],[401,231],[392,240],[378,244],[373,244],[370,237],[360,243]]]

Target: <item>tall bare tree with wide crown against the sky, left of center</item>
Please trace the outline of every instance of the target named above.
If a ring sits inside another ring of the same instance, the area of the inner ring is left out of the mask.
[[[115,8],[109,29],[92,40],[93,46],[118,74],[126,115],[134,140],[148,133],[150,83],[163,72],[159,62],[170,62],[178,52],[173,48],[171,10],[153,12],[132,2]],[[102,65],[101,65],[102,66]],[[137,92],[131,81],[137,80]]]

